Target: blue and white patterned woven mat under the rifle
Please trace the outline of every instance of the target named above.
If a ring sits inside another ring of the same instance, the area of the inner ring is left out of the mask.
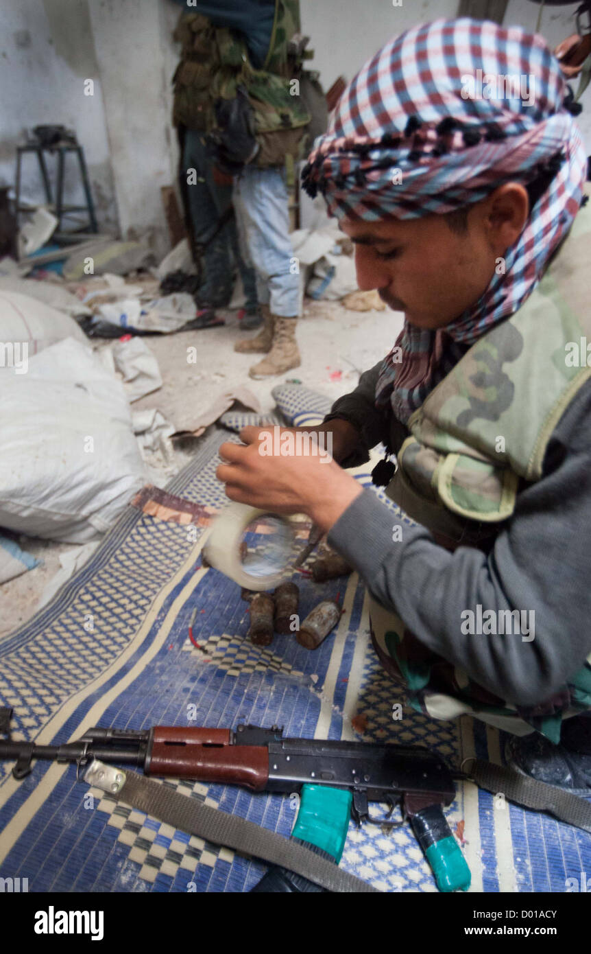
[[[293,384],[274,396],[277,423],[310,425],[329,406]],[[256,421],[230,413],[222,423],[238,429]],[[224,440],[228,431],[214,428],[170,492],[223,507],[214,474]],[[356,472],[364,485],[371,486],[372,467]],[[58,744],[93,725],[143,729],[191,719],[234,728],[243,721],[276,723],[288,736],[427,745],[454,765],[474,754],[502,760],[497,730],[465,716],[433,721],[404,704],[369,642],[355,573],[322,586],[298,579],[300,613],[337,593],[344,606],[318,650],[291,635],[276,635],[268,649],[254,646],[239,588],[216,570],[197,569],[206,532],[128,508],[51,604],[0,643],[0,704],[14,709],[15,737]],[[201,649],[188,634],[195,608]],[[404,707],[400,721],[392,717],[396,702]],[[27,878],[31,891],[247,891],[265,870],[77,783],[73,765],[37,762],[21,782],[10,768],[0,763],[0,878]],[[295,821],[294,798],[163,783],[286,836]],[[591,836],[472,784],[459,784],[447,816],[464,840],[471,891],[561,892],[566,879],[591,873]],[[386,835],[352,823],[341,863],[383,891],[437,890],[408,826]]]

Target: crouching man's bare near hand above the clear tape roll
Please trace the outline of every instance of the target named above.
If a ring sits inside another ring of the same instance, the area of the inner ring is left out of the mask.
[[[285,432],[295,434],[296,430],[279,429],[280,434]],[[275,513],[306,513],[327,533],[362,488],[325,454],[261,453],[269,434],[274,434],[272,425],[245,427],[240,431],[245,446],[226,443],[219,448],[219,456],[228,463],[220,464],[216,475],[226,484],[227,496]]]

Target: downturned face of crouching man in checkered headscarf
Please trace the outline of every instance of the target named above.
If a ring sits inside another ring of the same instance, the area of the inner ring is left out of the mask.
[[[512,187],[514,187],[512,191]],[[519,237],[527,218],[522,186],[502,186],[475,203],[465,234],[444,216],[380,222],[344,218],[342,231],[356,245],[357,283],[419,328],[441,328],[487,288],[499,256]]]

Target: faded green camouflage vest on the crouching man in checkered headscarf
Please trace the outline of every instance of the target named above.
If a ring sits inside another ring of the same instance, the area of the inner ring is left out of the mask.
[[[387,493],[418,523],[466,543],[471,527],[494,534],[522,482],[540,480],[552,432],[591,375],[590,258],[588,205],[520,310],[480,338],[412,414]],[[578,364],[574,344],[585,348]]]

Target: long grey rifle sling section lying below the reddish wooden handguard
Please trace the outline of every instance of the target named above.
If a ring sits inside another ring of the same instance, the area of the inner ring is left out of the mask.
[[[126,769],[125,782],[121,789],[117,793],[110,789],[107,791],[113,798],[173,825],[173,828],[187,832],[188,835],[225,845],[242,855],[252,855],[269,864],[288,868],[296,875],[314,881],[329,891],[377,893],[377,889],[371,884],[343,871],[333,861],[320,858],[294,840],[261,828],[253,821],[210,808],[196,798],[180,795],[168,785],[152,778],[145,778]]]

